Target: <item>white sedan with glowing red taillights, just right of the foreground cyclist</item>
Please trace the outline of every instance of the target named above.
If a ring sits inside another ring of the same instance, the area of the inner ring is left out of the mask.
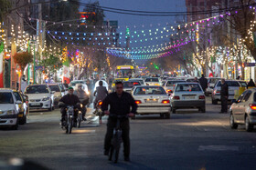
[[[162,86],[134,86],[132,95],[138,105],[138,115],[160,115],[161,117],[170,118],[170,98]]]

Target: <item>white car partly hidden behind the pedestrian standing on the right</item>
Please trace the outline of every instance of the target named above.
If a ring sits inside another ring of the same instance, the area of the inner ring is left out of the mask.
[[[228,101],[231,101],[232,99],[234,99],[235,96],[235,90],[239,90],[241,85],[240,85],[240,81],[237,80],[226,80],[226,83],[229,85],[229,98]],[[213,105],[217,105],[218,102],[220,101],[220,85],[221,85],[221,81],[219,80],[214,88],[213,88],[213,92],[211,94],[211,103]]]

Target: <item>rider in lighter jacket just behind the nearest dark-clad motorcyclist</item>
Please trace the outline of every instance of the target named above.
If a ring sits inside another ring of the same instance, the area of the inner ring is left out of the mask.
[[[77,89],[75,90],[74,95],[77,95],[80,99],[80,103],[82,104],[82,108],[80,108],[80,111],[82,113],[82,120],[86,121],[86,105],[89,103],[89,95],[87,95],[86,92],[82,89],[81,84],[77,84],[76,86]]]

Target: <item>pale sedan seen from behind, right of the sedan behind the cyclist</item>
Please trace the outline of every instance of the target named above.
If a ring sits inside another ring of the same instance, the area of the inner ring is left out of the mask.
[[[171,95],[172,113],[177,109],[198,108],[202,113],[206,112],[206,97],[201,85],[197,83],[177,83]]]

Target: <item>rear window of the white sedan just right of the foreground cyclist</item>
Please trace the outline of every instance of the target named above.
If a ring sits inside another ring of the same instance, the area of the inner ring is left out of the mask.
[[[166,95],[163,87],[137,87],[135,89],[134,95]]]

